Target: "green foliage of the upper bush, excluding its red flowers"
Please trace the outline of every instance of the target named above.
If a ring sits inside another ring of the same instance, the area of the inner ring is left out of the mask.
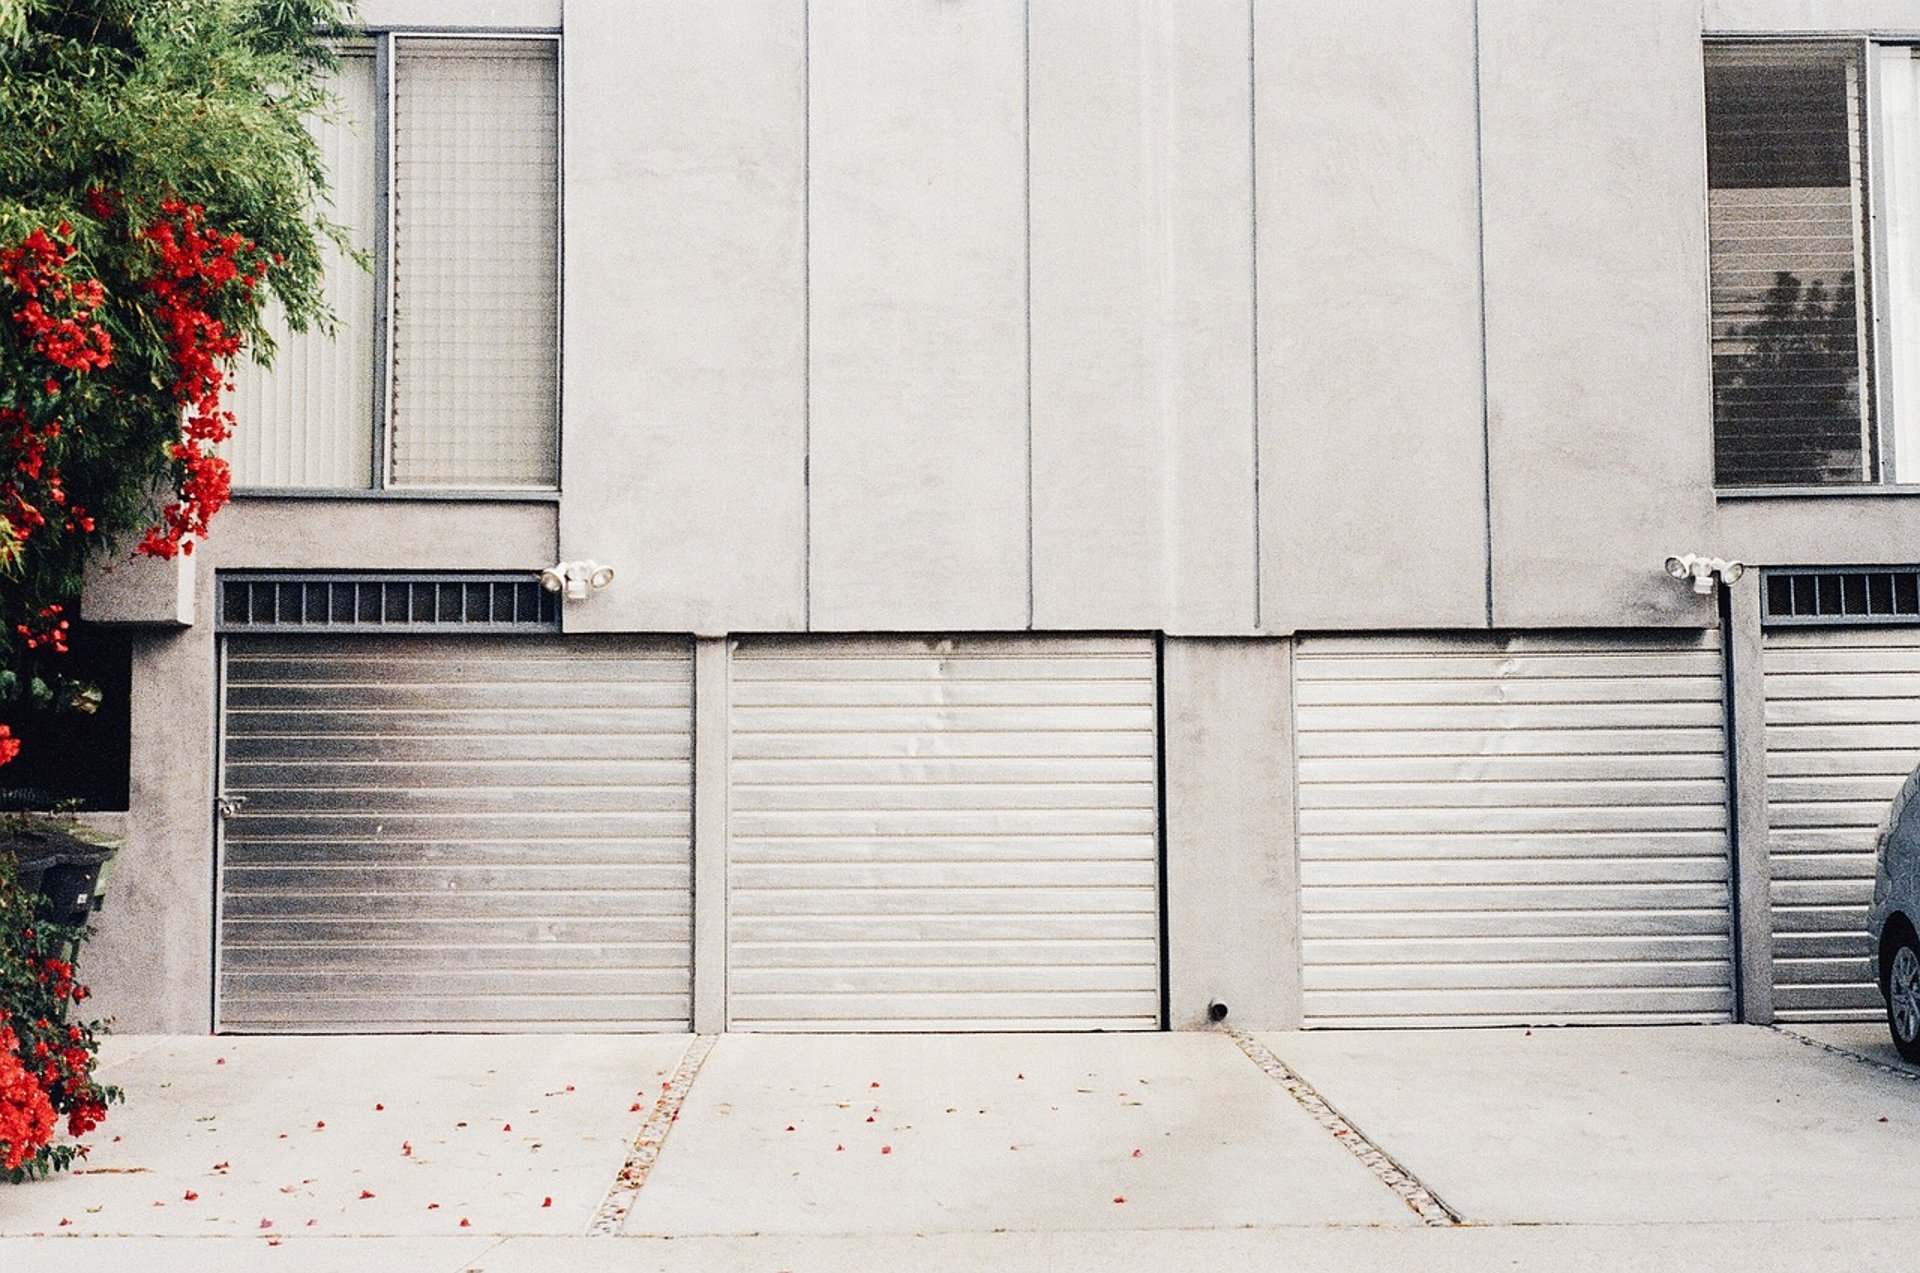
[[[228,286],[205,305],[257,361],[273,353],[271,303],[296,330],[330,321],[323,253],[357,246],[324,215],[305,121],[334,109],[328,36],[349,21],[349,0],[0,0],[0,253],[69,225],[65,275],[102,286],[88,321],[113,348],[109,367],[52,390],[17,330],[23,298],[0,278],[0,420],[12,409],[31,428],[58,424],[48,467],[96,528],[52,516],[25,551],[0,543],[0,716],[23,693],[84,697],[60,684],[60,651],[29,647],[19,626],[44,628],[48,607],[71,614],[86,559],[131,547],[190,480],[173,449],[177,336],[169,346],[150,288],[161,257],[144,236],[163,207],[198,205],[209,228],[273,261],[261,288]],[[17,445],[0,449],[0,478],[13,478],[15,457]],[[0,518],[19,526],[8,505],[0,488]]]

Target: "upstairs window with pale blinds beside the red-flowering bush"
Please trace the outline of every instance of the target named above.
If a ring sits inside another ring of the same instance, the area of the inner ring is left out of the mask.
[[[332,336],[276,330],[236,374],[240,490],[551,490],[559,399],[559,73],[551,38],[376,36],[315,121]]]

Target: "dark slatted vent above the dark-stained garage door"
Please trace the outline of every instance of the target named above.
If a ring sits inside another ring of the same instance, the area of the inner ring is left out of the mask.
[[[532,574],[234,574],[221,632],[559,632]]]

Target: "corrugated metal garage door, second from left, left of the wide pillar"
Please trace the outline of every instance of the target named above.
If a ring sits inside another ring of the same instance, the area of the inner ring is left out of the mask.
[[[747,643],[728,1018],[1154,1029],[1150,639]]]

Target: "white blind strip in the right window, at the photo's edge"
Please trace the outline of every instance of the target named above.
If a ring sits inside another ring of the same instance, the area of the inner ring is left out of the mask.
[[[1891,468],[1895,482],[1920,482],[1920,61],[1905,46],[1878,54]]]

